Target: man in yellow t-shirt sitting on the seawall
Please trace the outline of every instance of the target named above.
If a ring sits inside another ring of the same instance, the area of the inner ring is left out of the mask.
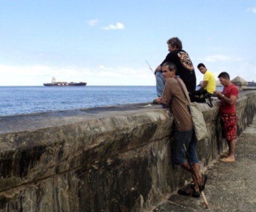
[[[210,70],[207,70],[203,63],[198,64],[197,68],[204,75],[204,80],[201,84],[200,90],[205,89],[208,93],[213,94],[216,87],[216,81],[213,73],[210,72]]]

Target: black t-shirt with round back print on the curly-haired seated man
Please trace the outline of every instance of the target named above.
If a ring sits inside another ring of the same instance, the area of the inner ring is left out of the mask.
[[[161,66],[166,62],[172,62],[176,65],[176,75],[181,77],[188,92],[193,92],[196,88],[196,76],[194,66],[188,54],[184,50],[172,51],[166,56]]]

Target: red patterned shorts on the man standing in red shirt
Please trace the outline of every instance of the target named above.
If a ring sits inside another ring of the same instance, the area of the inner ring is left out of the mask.
[[[236,113],[221,113],[222,138],[231,142],[236,138]]]

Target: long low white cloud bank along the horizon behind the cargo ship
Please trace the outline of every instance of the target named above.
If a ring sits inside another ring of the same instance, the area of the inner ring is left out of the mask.
[[[8,66],[0,65],[0,86],[42,86],[57,81],[87,82],[88,85],[155,85],[155,76],[148,68],[106,67],[77,68],[48,65]]]

